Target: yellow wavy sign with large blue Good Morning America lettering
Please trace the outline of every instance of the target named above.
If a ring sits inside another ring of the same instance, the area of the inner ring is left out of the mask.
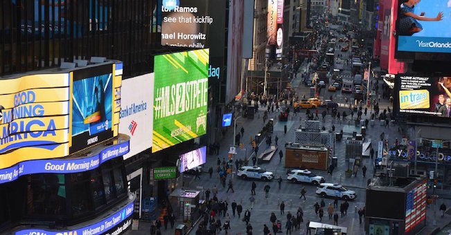
[[[69,155],[69,86],[69,73],[0,80],[0,169]]]

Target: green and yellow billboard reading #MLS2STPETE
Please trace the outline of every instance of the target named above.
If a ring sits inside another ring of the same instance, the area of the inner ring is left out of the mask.
[[[152,152],[206,134],[209,49],[154,57]]]

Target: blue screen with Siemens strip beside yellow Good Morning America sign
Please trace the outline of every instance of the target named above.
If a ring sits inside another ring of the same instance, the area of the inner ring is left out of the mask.
[[[73,71],[71,152],[113,137],[112,64]]]

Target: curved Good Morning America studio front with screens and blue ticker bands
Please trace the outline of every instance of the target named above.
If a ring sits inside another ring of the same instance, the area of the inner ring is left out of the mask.
[[[134,196],[118,133],[122,62],[0,79],[0,234],[122,234]]]

